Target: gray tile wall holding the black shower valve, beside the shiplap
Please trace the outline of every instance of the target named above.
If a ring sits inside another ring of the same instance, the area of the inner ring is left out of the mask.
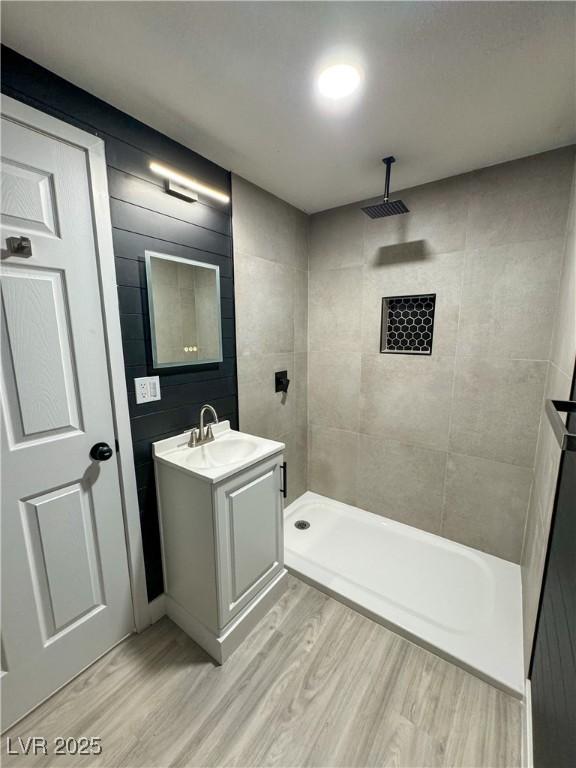
[[[307,487],[308,216],[239,176],[232,204],[240,429],[286,443],[290,502]]]

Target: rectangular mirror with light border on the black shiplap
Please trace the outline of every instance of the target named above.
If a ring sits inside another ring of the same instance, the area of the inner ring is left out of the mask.
[[[222,360],[220,268],[146,251],[154,368]]]

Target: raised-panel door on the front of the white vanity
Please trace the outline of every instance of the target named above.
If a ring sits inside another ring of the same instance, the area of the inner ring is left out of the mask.
[[[275,456],[216,488],[221,628],[283,568],[281,464]]]

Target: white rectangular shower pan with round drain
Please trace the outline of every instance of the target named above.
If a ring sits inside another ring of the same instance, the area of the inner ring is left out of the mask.
[[[518,565],[311,491],[286,508],[284,541],[293,573],[523,695]]]

